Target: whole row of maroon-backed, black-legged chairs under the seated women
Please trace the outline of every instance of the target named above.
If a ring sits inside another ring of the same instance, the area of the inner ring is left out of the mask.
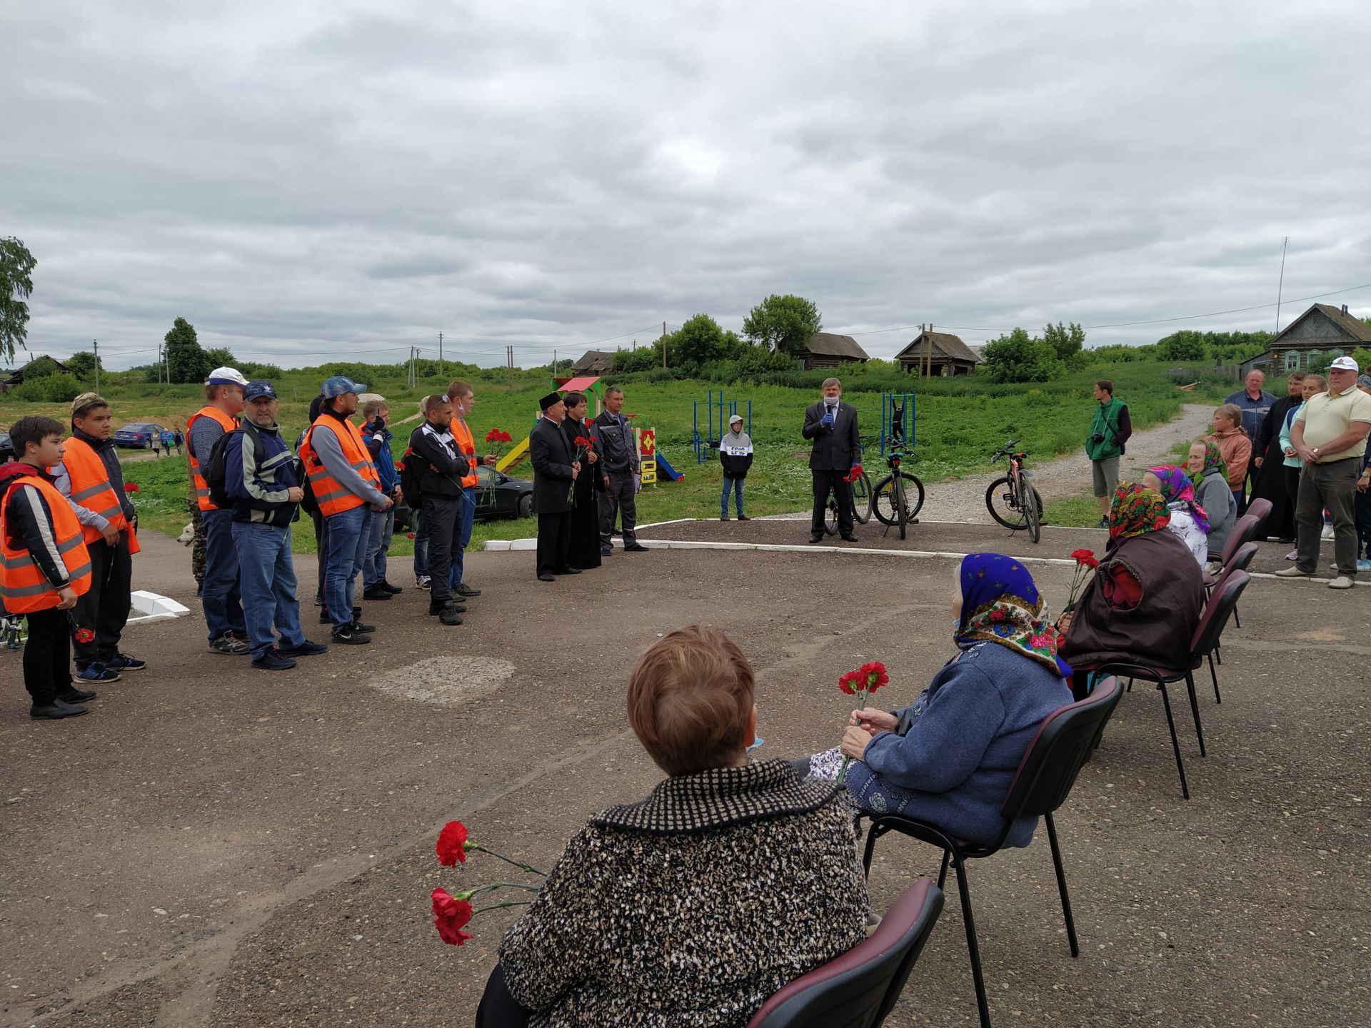
[[[1102,680],[1097,680],[1094,689],[1086,699],[1054,711],[1043,721],[1028,744],[1009,785],[1009,794],[999,811],[1005,828],[994,844],[969,843],[954,837],[939,825],[902,814],[865,816],[871,818],[866,847],[862,854],[862,865],[868,874],[871,873],[876,840],[890,832],[897,832],[942,848],[943,861],[938,883],[934,884],[927,877],[919,879],[895,899],[882,918],[880,927],[869,939],[776,992],[749,1021],[749,1028],[875,1028],[875,1025],[882,1024],[899,999],[905,981],[909,979],[909,973],[942,911],[942,890],[946,884],[949,866],[957,874],[957,891],[967,929],[967,950],[971,957],[971,975],[976,987],[980,1025],[990,1028],[986,983],[980,968],[980,947],[976,942],[971,890],[967,883],[967,861],[982,859],[998,853],[1004,847],[1013,822],[1021,817],[1041,817],[1047,829],[1052,865],[1057,876],[1057,892],[1061,896],[1061,913],[1067,922],[1067,939],[1071,944],[1071,955],[1079,957],[1080,944],[1076,939],[1071,894],[1067,888],[1067,874],[1061,864],[1061,846],[1057,840],[1057,825],[1053,821],[1053,814],[1065,803],[1080,769],[1090,759],[1109,717],[1123,698],[1123,688],[1117,677],[1120,674],[1130,678],[1130,689],[1134,678],[1146,678],[1154,681],[1161,691],[1167,725],[1171,729],[1171,746],[1176,757],[1176,772],[1180,776],[1180,792],[1186,799],[1190,799],[1167,685],[1182,680],[1186,683],[1190,694],[1190,710],[1196,722],[1196,736],[1200,742],[1200,755],[1202,757],[1205,754],[1204,729],[1200,724],[1200,705],[1196,698],[1193,673],[1202,659],[1208,659],[1209,674],[1213,680],[1213,698],[1216,703],[1222,703],[1219,676],[1215,670],[1216,659],[1223,663],[1219,652],[1219,637],[1223,635],[1230,615],[1237,621],[1238,598],[1250,581],[1246,569],[1257,554],[1257,546],[1252,539],[1267,513],[1270,513],[1267,500],[1252,503],[1248,513],[1234,525],[1224,544],[1217,573],[1205,576],[1209,600],[1191,639],[1186,670],[1128,662],[1111,663],[1098,669],[1097,676],[1102,676]]]

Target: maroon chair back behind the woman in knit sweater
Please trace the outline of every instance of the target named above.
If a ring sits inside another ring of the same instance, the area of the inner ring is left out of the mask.
[[[875,1028],[899,999],[942,905],[934,880],[919,879],[869,939],[780,988],[747,1028]]]

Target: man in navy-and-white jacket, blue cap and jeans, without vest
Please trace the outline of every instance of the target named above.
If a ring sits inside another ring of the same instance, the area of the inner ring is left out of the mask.
[[[328,650],[300,629],[295,596],[291,522],[304,491],[295,474],[295,454],[276,422],[280,402],[270,382],[248,382],[243,426],[223,451],[223,489],[233,502],[233,547],[239,554],[243,620],[247,622],[252,666],[284,672],[296,657]],[[271,626],[281,633],[280,644]]]

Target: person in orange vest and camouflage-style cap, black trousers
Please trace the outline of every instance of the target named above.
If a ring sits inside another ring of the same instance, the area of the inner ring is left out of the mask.
[[[119,652],[129,621],[133,554],[140,547],[112,433],[108,402],[93,392],[81,393],[71,402],[71,439],[64,444],[64,456],[52,467],[53,484],[81,522],[90,554],[90,588],[75,609],[77,625],[95,633],[90,639],[77,636],[77,677],[82,683],[115,681],[122,672],[147,666]]]

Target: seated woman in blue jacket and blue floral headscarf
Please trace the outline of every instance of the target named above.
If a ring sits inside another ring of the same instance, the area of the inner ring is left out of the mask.
[[[1028,569],[1004,554],[969,554],[951,593],[957,654],[903,710],[854,710],[842,744],[797,769],[838,777],[869,813],[932,821],[960,839],[994,843],[999,807],[1038,728],[1071,703],[1053,629]],[[1009,846],[1027,846],[1024,817]]]

